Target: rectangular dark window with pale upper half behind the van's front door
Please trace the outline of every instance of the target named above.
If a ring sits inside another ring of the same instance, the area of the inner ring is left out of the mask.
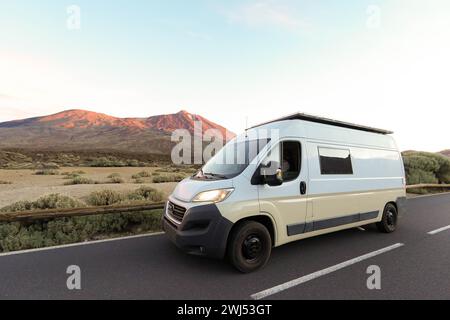
[[[350,150],[319,147],[319,157],[321,174],[353,174]]]

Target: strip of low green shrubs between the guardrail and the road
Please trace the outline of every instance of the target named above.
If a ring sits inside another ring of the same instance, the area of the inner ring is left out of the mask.
[[[0,252],[42,248],[123,234],[159,231],[162,210],[0,224]]]

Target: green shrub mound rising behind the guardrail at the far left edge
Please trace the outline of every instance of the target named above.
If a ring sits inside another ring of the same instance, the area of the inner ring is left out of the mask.
[[[18,212],[28,210],[46,210],[46,209],[67,209],[67,208],[79,208],[84,204],[60,194],[50,194],[43,196],[36,201],[18,201],[7,207],[2,208],[3,212]]]

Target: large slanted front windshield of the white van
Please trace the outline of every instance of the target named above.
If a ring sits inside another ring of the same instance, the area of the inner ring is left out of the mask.
[[[231,179],[240,175],[270,139],[230,141],[194,176],[197,179]]]

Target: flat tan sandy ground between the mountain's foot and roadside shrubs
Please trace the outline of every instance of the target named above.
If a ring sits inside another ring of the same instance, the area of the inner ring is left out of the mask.
[[[41,196],[59,193],[67,195],[72,198],[84,201],[85,197],[93,191],[98,190],[115,190],[120,192],[127,192],[138,189],[140,186],[151,186],[155,189],[161,190],[166,195],[169,195],[176,186],[176,183],[151,183],[151,178],[144,178],[142,184],[134,183],[131,178],[133,174],[141,171],[153,172],[158,168],[60,168],[58,171],[72,172],[84,171],[86,174],[83,177],[99,181],[102,184],[92,185],[72,185],[65,186],[69,180],[64,179],[63,175],[55,176],[39,176],[35,175],[35,170],[2,170],[0,169],[0,181],[8,181],[12,184],[0,184],[0,208],[10,205],[17,201],[29,200],[33,201]],[[108,176],[112,173],[118,173],[125,180],[122,184],[103,184],[108,181]]]

